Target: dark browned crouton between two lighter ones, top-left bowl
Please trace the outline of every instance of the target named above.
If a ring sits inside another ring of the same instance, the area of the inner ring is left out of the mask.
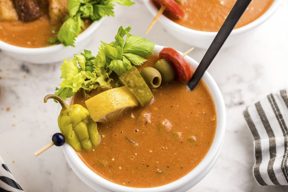
[[[15,0],[19,19],[23,22],[34,21],[42,16],[39,5],[35,0]]]

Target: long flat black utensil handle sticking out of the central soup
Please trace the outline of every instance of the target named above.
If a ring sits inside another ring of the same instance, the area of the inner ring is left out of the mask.
[[[190,81],[188,82],[188,88],[193,90],[197,83],[200,81],[201,77],[221,49],[222,45],[230,35],[231,31],[241,18],[242,14],[247,9],[248,5],[252,0],[237,0],[233,8],[231,9],[229,15],[218,31],[216,37],[212,41],[210,47],[202,58],[199,66],[192,75]]]

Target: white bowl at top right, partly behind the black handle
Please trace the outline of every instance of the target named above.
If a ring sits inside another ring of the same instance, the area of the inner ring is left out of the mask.
[[[155,17],[159,9],[151,2],[151,0],[143,0],[143,2],[147,9]],[[269,9],[258,19],[245,26],[234,29],[230,33],[230,36],[228,37],[226,42],[223,44],[223,47],[230,47],[232,45],[236,45],[242,42],[243,39],[249,37],[249,35],[251,35],[254,31],[253,29],[261,25],[268,18],[270,18],[272,14],[274,14],[274,12],[281,5],[281,2],[282,0],[274,0]],[[171,21],[163,14],[159,17],[158,21],[163,25],[163,27],[168,31],[168,33],[173,35],[176,39],[179,39],[180,41],[194,47],[199,47],[203,49],[208,49],[217,34],[217,32],[198,31],[181,26]],[[150,33],[153,33],[153,31],[150,31]]]

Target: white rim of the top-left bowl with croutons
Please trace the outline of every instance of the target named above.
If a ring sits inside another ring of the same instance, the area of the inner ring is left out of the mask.
[[[103,19],[104,17],[101,18],[99,21],[94,21],[86,30],[80,33],[78,37],[75,38],[75,45],[78,41],[82,41],[87,36],[91,35],[98,28],[98,26],[102,23]],[[45,54],[45,53],[47,54],[47,53],[62,50],[63,48],[65,48],[65,46],[62,44],[52,45],[52,46],[47,46],[47,47],[39,47],[39,48],[18,47],[18,46],[10,45],[8,43],[0,41],[0,49],[18,53],[18,54],[27,54],[27,55],[28,54],[31,54],[31,55]]]

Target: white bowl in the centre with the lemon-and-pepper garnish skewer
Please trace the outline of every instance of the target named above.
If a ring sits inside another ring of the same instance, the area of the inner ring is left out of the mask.
[[[162,50],[163,46],[156,45],[153,51],[153,54],[159,54]],[[182,53],[181,53],[182,54]],[[198,63],[190,58],[189,56],[184,57],[185,60],[190,64],[190,67],[193,71],[195,71]],[[67,143],[63,145],[63,152],[68,164],[71,166],[72,170],[75,174],[89,187],[98,192],[169,192],[169,191],[177,191],[183,192],[192,188],[196,185],[200,180],[202,180],[206,174],[212,169],[216,160],[219,157],[219,154],[222,149],[224,135],[225,135],[225,126],[226,126],[226,109],[223,101],[223,97],[221,92],[211,77],[211,75],[206,71],[202,77],[203,81],[207,85],[213,101],[215,103],[215,109],[217,114],[217,126],[215,137],[212,142],[212,145],[206,154],[206,156],[202,159],[202,161],[194,168],[191,172],[183,176],[182,178],[173,181],[172,183],[162,185],[159,187],[151,187],[151,188],[135,188],[135,187],[126,187],[123,185],[118,185],[111,181],[106,180],[105,178],[97,175],[90,168],[84,164],[84,162],[79,158],[74,149]],[[59,105],[58,114],[60,113],[61,106]]]

